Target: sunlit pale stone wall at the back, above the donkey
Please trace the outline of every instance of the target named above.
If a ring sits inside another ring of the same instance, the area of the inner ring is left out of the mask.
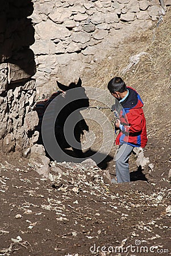
[[[33,0],[38,94],[78,79],[135,31],[152,26],[159,0]],[[167,5],[171,4],[167,0]]]

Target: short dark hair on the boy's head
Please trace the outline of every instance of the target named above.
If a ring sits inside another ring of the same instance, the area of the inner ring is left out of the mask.
[[[122,78],[115,76],[109,81],[107,85],[107,89],[109,89],[110,93],[114,93],[114,92],[122,93],[122,92],[126,92],[127,86],[125,82],[122,80]]]

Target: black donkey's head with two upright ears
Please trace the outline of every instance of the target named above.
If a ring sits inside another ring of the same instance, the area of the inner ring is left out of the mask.
[[[78,79],[77,83],[71,82],[69,86],[63,85],[57,81],[57,86],[59,89],[66,92],[66,97],[69,97],[70,100],[72,100],[72,97],[77,99],[70,102],[72,110],[89,107],[89,98],[87,98],[85,89],[82,87],[81,78]]]

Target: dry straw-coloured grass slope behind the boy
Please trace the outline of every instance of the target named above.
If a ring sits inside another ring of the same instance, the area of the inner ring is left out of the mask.
[[[171,90],[171,9],[164,16],[159,27],[156,24],[143,33],[131,36],[111,52],[106,59],[87,71],[89,84],[107,89],[107,83],[114,76],[122,76],[127,85],[137,89],[144,101],[148,138],[168,141],[170,135],[170,90]],[[129,64],[131,56],[140,52],[138,64],[126,74],[122,71]],[[107,112],[106,112],[107,113]],[[110,113],[109,113],[110,114]],[[94,130],[95,127],[93,127]],[[97,131],[98,134],[98,131]]]

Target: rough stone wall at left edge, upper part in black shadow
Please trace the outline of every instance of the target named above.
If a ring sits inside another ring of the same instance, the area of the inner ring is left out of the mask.
[[[0,148],[1,152],[27,155],[37,141],[34,127],[38,118],[32,112],[36,85],[34,27],[31,0],[1,0],[0,10]]]

